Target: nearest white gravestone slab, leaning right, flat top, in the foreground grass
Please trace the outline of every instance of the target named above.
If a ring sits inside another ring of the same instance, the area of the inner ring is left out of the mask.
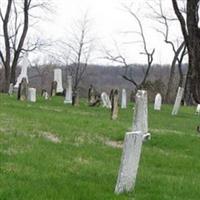
[[[142,150],[142,142],[142,132],[126,133],[121,165],[115,187],[116,194],[130,192],[134,189]]]

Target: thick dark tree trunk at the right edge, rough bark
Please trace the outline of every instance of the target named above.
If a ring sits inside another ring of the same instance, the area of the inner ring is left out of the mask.
[[[200,103],[200,28],[199,0],[185,0],[186,17],[180,2],[172,0],[174,12],[180,22],[182,34],[188,50],[188,73],[185,87],[187,104]]]

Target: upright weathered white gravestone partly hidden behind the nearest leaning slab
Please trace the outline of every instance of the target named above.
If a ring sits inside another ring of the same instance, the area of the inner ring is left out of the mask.
[[[133,131],[141,131],[148,133],[148,104],[147,92],[138,90],[135,97],[135,110],[132,129]]]

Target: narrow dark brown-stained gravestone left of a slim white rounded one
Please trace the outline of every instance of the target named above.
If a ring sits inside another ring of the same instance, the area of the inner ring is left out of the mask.
[[[111,96],[111,119],[116,120],[118,118],[118,100],[119,100],[119,92],[117,89],[113,90],[112,96]]]

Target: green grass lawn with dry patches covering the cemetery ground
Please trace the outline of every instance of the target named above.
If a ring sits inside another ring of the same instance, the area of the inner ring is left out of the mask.
[[[122,141],[132,105],[119,119],[101,107],[64,105],[61,97],[37,103],[0,94],[0,200],[199,200],[199,116],[183,107],[171,116],[149,105],[151,141],[143,145],[135,190],[116,196]],[[45,134],[56,136],[54,143]]]

